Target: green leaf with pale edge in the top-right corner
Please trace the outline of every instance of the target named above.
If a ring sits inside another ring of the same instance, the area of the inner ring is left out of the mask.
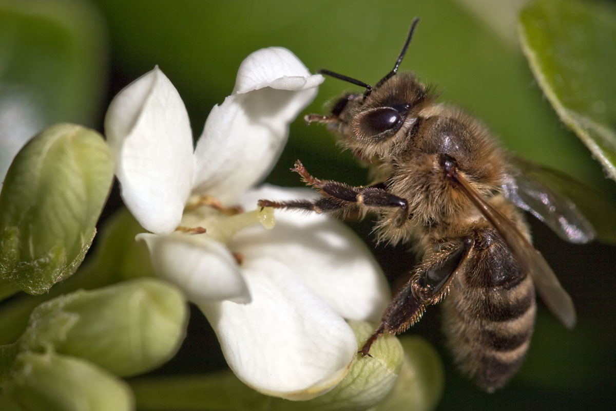
[[[616,179],[616,9],[598,1],[533,1],[520,15],[522,47],[560,116]]]

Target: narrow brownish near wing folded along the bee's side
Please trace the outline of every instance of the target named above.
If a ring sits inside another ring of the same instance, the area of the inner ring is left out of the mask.
[[[549,267],[541,253],[530,244],[529,240],[522,235],[503,213],[496,210],[488,203],[472,185],[460,176],[453,176],[460,189],[472,201],[472,203],[484,214],[485,218],[492,223],[503,237],[505,243],[522,266],[522,269],[532,275],[533,283],[543,301],[545,301],[552,314],[561,320],[567,328],[575,325],[575,307],[567,291],[562,288],[556,278],[556,274]]]

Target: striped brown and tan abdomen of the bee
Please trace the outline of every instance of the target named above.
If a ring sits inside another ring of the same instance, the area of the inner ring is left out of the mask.
[[[463,372],[491,392],[524,361],[535,322],[535,288],[495,230],[477,237],[444,301],[444,332]]]

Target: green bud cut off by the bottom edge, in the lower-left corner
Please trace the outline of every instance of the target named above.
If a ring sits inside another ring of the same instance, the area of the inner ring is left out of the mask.
[[[126,383],[87,361],[52,352],[20,354],[6,393],[23,410],[133,409]]]

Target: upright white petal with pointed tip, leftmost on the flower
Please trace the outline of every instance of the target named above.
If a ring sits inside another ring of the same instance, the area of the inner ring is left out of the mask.
[[[105,134],[131,213],[152,232],[174,230],[190,195],[192,131],[182,99],[158,67],[111,101]]]

